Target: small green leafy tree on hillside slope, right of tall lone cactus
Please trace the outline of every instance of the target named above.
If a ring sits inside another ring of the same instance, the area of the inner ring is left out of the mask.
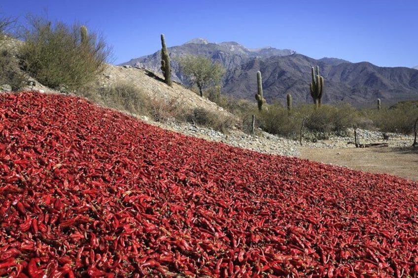
[[[199,88],[200,96],[209,87],[220,86],[225,69],[203,56],[186,56],[179,61],[181,73]]]

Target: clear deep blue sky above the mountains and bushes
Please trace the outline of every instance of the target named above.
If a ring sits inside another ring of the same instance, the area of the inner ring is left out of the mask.
[[[1,0],[0,16],[47,14],[103,33],[114,63],[196,37],[379,66],[418,65],[418,0]]]

